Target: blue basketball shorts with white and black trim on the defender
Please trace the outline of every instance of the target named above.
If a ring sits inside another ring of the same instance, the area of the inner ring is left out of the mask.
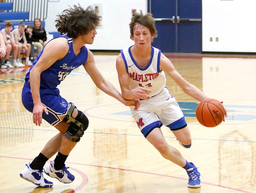
[[[61,122],[60,116],[66,115],[70,104],[59,95],[59,89],[40,89],[40,97],[43,106],[48,110],[48,115],[43,112],[42,118],[55,126]],[[30,83],[25,82],[22,89],[22,104],[33,113],[34,103],[31,95]]]

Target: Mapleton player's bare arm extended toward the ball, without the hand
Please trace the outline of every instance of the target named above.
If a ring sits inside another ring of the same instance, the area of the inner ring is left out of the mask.
[[[171,61],[161,54],[160,58],[160,70],[164,70],[174,81],[178,84],[179,87],[189,96],[195,98],[198,101],[205,100],[209,98],[206,96],[200,89],[195,87],[193,84],[190,84],[186,81],[174,68]]]

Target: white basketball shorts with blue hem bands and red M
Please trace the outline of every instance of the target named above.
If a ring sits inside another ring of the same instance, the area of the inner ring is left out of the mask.
[[[170,95],[167,87],[158,95],[140,102],[138,110],[133,110],[134,107],[130,107],[130,110],[144,137],[147,137],[154,128],[160,128],[162,125],[169,127],[171,131],[187,126],[181,108],[175,98]]]

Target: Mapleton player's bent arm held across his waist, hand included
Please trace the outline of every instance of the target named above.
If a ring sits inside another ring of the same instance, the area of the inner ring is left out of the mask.
[[[147,88],[138,87],[131,90],[129,89],[129,75],[126,72],[125,63],[122,59],[121,54],[119,54],[119,56],[117,57],[116,68],[123,98],[133,99],[135,97],[143,100],[148,100],[149,98],[151,98],[151,96],[149,95],[151,91]]]

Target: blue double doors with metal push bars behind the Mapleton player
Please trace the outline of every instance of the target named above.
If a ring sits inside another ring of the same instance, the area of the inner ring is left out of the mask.
[[[148,0],[158,31],[152,46],[162,52],[202,53],[201,0]]]

